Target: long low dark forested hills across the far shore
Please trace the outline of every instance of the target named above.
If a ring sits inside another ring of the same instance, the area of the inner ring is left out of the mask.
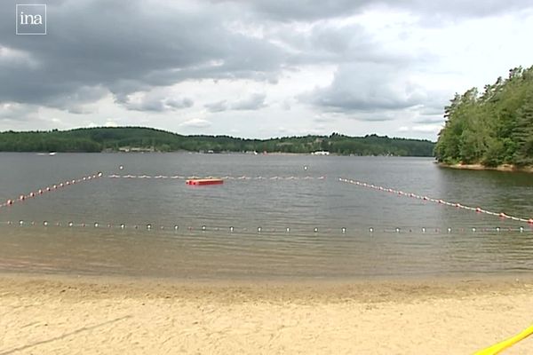
[[[331,154],[432,156],[434,143],[428,140],[388,138],[377,135],[347,137],[305,136],[244,139],[227,136],[182,136],[164,130],[141,127],[90,128],[0,133],[4,152],[113,152],[153,150],[158,152],[280,152]]]

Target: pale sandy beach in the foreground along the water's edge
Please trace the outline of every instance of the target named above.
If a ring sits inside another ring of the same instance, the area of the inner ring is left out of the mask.
[[[0,354],[470,354],[529,327],[533,280],[0,276]],[[506,354],[530,354],[533,338]]]

